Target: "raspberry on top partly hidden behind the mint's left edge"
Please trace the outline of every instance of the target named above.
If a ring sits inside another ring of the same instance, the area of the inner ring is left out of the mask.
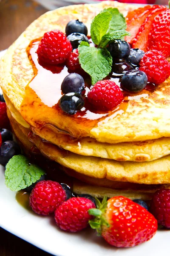
[[[79,52],[78,48],[74,49],[73,52],[70,53],[68,59],[66,61],[66,66],[69,70],[78,70],[82,69],[81,65],[79,64]]]

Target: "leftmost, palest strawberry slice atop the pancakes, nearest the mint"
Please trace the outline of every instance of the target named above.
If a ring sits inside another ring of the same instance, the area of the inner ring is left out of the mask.
[[[146,20],[147,16],[150,15],[150,13],[155,11],[156,9],[159,9],[159,10],[163,11],[164,9],[166,9],[166,7],[165,6],[159,6],[159,5],[152,6],[151,8],[145,10],[139,16],[134,17],[132,20],[130,20],[129,23],[127,23],[127,29],[126,30],[128,32],[130,32],[131,36],[126,36],[125,40],[129,44],[132,44],[133,38],[136,38],[136,35],[138,34],[139,29],[142,26],[142,24],[144,23],[144,21]]]

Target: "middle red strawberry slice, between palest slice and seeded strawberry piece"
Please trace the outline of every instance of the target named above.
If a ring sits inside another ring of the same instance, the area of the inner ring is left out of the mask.
[[[148,35],[150,33],[150,28],[156,15],[166,10],[166,6],[155,6],[155,9],[147,16],[144,23],[139,29],[138,34],[131,41],[132,48],[139,48],[144,52],[147,52],[148,49]]]

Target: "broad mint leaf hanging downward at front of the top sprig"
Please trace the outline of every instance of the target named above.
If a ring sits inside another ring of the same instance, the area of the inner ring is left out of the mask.
[[[106,48],[79,47],[79,63],[91,76],[92,84],[102,80],[111,72],[112,57]]]

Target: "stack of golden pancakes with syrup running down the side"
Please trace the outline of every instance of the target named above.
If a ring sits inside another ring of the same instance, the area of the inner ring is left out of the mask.
[[[103,1],[60,8],[35,20],[3,56],[1,87],[11,127],[24,150],[32,152],[34,146],[59,163],[75,178],[75,193],[149,200],[157,189],[170,187],[170,79],[125,97],[109,113],[88,109],[72,116],[57,104],[67,71],[58,76],[41,67],[34,50],[45,32],[65,32],[70,20],[79,19],[90,31],[93,17],[109,7],[124,15],[136,8]]]

